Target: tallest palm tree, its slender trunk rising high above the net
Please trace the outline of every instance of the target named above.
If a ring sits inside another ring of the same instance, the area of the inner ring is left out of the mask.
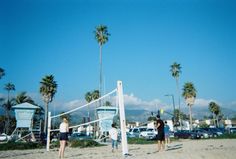
[[[102,95],[102,46],[108,41],[108,37],[110,34],[108,33],[107,26],[105,25],[99,25],[96,27],[96,30],[94,31],[95,33],[95,38],[99,44],[100,47],[100,82],[99,82],[99,92]],[[100,102],[101,105],[101,102]]]

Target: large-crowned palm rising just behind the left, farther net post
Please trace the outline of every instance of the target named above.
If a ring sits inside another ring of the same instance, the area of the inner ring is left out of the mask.
[[[44,133],[46,133],[48,123],[48,104],[53,101],[53,98],[57,92],[57,83],[54,81],[53,75],[46,75],[40,84],[41,86],[39,91],[45,103]]]

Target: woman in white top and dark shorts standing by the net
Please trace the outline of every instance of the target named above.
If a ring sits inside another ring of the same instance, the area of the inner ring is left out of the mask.
[[[60,148],[59,148],[59,158],[64,158],[64,152],[66,147],[66,142],[68,141],[69,124],[66,118],[63,118],[60,124]]]

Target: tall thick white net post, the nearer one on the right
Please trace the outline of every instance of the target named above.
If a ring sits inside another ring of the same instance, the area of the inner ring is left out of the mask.
[[[126,136],[126,120],[125,120],[125,109],[124,109],[124,96],[122,82],[117,81],[117,93],[118,93],[118,104],[120,109],[120,129],[121,129],[121,145],[123,155],[128,155],[128,145]]]

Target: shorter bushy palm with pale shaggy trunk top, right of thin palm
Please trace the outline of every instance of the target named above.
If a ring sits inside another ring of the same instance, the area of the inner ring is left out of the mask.
[[[190,119],[190,130],[192,130],[192,106],[194,104],[197,91],[191,82],[184,84],[182,96],[184,97],[187,105],[189,106],[189,119]]]

